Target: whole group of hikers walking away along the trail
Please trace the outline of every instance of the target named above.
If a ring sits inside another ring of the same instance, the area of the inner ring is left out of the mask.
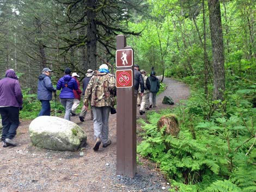
[[[139,114],[143,115],[145,110],[156,107],[156,94],[160,88],[159,79],[155,76],[154,70],[150,77],[145,70],[139,70],[139,66],[134,66],[134,89],[135,97],[138,97],[137,106],[140,107]],[[90,106],[91,116],[94,125],[93,150],[99,150],[111,144],[108,138],[108,117],[109,112],[114,109],[116,86],[115,77],[108,70],[108,65],[100,65],[98,70],[88,69],[86,77],[82,80],[82,91],[76,72],[71,73],[67,67],[65,75],[61,77],[56,88],[51,82],[51,72],[49,68],[44,68],[38,77],[38,100],[41,102],[41,110],[38,116],[50,116],[53,93],[60,90],[60,103],[65,108],[64,119],[70,121],[70,116],[76,115],[76,110],[80,104],[81,96],[83,107],[79,114],[80,121],[84,122],[87,109]],[[5,72],[5,78],[0,80],[0,114],[2,117],[2,138],[3,147],[16,146],[14,137],[19,126],[19,111],[22,110],[22,92],[19,80],[13,69]]]

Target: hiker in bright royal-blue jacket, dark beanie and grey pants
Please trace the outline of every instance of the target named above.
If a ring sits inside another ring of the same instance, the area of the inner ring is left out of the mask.
[[[62,103],[65,108],[64,119],[66,120],[70,120],[70,112],[74,103],[75,95],[73,89],[75,91],[78,90],[76,80],[72,78],[70,74],[71,70],[67,67],[65,69],[65,75],[57,82],[57,90],[61,89],[59,97],[60,103]]]

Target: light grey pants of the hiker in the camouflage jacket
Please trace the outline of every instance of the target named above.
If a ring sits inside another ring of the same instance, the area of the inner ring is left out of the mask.
[[[102,144],[106,144],[108,141],[108,116],[110,108],[105,107],[92,107],[93,108],[93,128],[94,128],[94,140],[99,137]]]

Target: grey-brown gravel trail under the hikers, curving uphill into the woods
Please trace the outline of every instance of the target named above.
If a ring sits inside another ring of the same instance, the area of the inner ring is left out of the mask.
[[[176,80],[164,78],[167,89],[157,96],[159,110],[175,107],[180,100],[190,95],[189,88]],[[174,106],[162,104],[163,96],[170,96]],[[144,118],[145,115],[137,117]],[[146,111],[147,113],[147,111]],[[71,121],[80,125],[87,133],[87,145],[80,151],[53,151],[35,147],[29,139],[28,127],[31,121],[22,121],[17,129],[16,147],[0,147],[0,191],[168,191],[171,187],[157,166],[148,159],[139,157],[135,177],[116,175],[116,115],[109,115],[109,139],[112,144],[100,146],[93,151],[93,121],[87,113],[86,121],[80,122],[77,116]],[[137,123],[137,143],[142,132]],[[81,152],[84,153],[81,156]]]

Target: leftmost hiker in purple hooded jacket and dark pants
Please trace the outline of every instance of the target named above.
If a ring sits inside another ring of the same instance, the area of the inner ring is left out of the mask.
[[[14,137],[19,127],[19,111],[22,109],[22,92],[14,70],[7,70],[0,80],[0,114],[2,117],[3,147],[16,146]]]

